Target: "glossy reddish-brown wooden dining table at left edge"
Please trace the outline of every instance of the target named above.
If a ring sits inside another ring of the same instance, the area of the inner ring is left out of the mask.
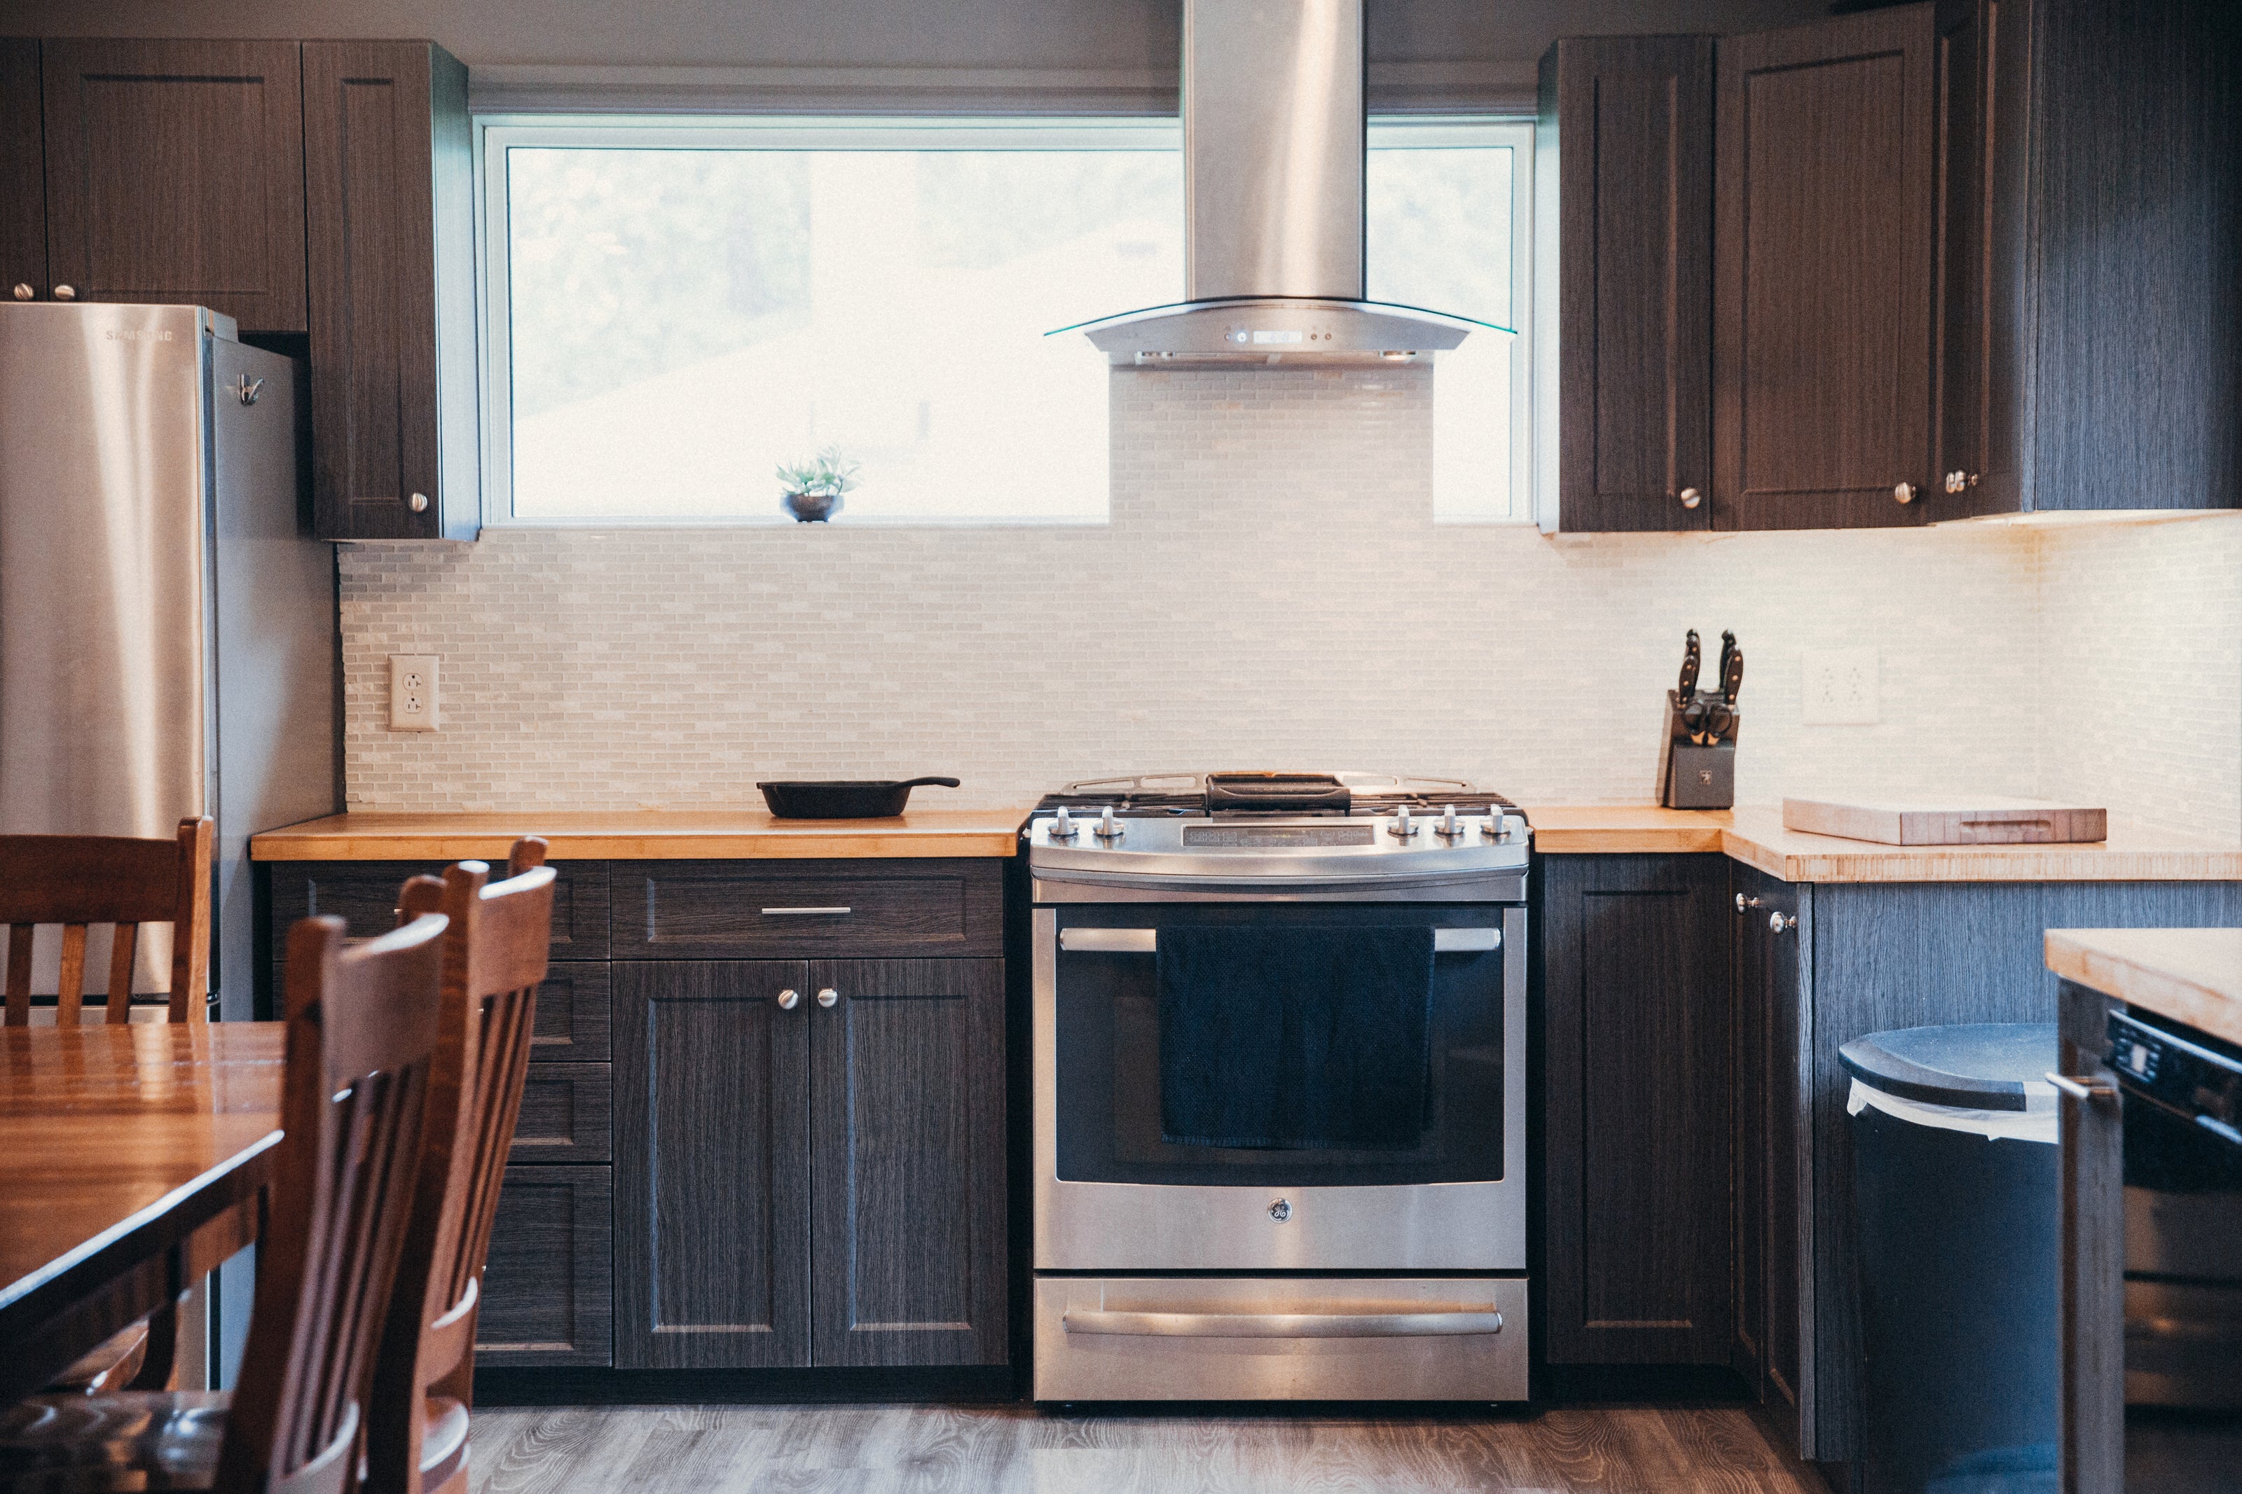
[[[0,1028],[0,1407],[256,1239],[285,1033]]]

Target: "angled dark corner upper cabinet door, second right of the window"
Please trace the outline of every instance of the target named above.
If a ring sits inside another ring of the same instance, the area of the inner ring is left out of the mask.
[[[1928,4],[1720,43],[1715,529],[1921,524]]]

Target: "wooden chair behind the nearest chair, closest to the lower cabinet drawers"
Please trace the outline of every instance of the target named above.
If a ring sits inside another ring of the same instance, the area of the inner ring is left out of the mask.
[[[399,916],[442,912],[444,1017],[397,1295],[374,1371],[368,1487],[464,1494],[475,1319],[498,1187],[522,1109],[529,1030],[552,947],[545,842],[513,844],[509,878],[480,860],[406,883]]]

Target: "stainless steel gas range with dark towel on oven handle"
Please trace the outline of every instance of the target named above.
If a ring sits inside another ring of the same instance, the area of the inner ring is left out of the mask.
[[[1370,773],[1036,809],[1036,1400],[1527,1395],[1529,847]]]

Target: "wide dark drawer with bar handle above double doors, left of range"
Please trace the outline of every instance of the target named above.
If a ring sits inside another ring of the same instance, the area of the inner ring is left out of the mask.
[[[614,959],[998,956],[993,860],[614,862]]]

